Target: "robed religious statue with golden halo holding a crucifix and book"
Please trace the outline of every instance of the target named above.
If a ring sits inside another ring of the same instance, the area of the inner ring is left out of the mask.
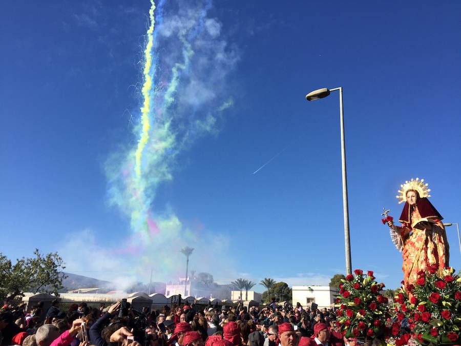
[[[404,286],[414,284],[418,272],[427,271],[429,267],[438,276],[448,267],[449,247],[447,234],[442,223],[442,215],[432,206],[424,179],[411,179],[401,185],[397,199],[405,202],[399,221],[402,226],[395,226],[393,218],[384,210],[383,223],[390,227],[390,235],[395,247],[402,252]]]

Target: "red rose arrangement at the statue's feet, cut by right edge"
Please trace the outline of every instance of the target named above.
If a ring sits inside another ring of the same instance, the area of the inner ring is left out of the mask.
[[[397,320],[407,317],[411,330],[396,341],[397,346],[407,344],[410,337],[421,344],[455,344],[460,340],[461,278],[453,275],[453,268],[444,269],[439,277],[437,269],[430,266],[427,272],[419,272],[416,284],[408,285],[408,294],[402,288],[395,296]]]

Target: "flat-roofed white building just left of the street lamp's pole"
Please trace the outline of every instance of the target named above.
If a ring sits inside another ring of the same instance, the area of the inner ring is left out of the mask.
[[[316,303],[319,309],[331,308],[339,295],[338,290],[329,286],[293,286],[291,290],[293,306],[299,302],[303,308]]]

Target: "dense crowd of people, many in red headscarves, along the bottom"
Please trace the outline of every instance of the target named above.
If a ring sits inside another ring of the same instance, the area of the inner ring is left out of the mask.
[[[64,311],[66,310],[66,311]],[[45,316],[44,316],[45,315]],[[44,317],[42,317],[44,316]],[[304,309],[300,303],[265,308],[164,306],[131,309],[122,299],[110,307],[86,303],[60,309],[53,301],[26,313],[25,306],[0,310],[0,345],[20,346],[354,346],[343,338],[333,309]]]

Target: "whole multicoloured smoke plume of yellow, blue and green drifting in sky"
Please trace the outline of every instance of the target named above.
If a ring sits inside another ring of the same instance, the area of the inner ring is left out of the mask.
[[[131,221],[125,250],[136,255],[138,271],[155,262],[163,274],[176,274],[183,267],[181,246],[200,249],[206,243],[205,250],[223,243],[217,234],[201,234],[197,241],[171,208],[153,208],[159,185],[173,179],[178,154],[198,137],[216,132],[222,112],[233,105],[223,95],[238,53],[223,38],[221,23],[208,16],[211,8],[209,1],[160,1],[157,7],[151,1],[134,142],[106,164],[110,202]]]

